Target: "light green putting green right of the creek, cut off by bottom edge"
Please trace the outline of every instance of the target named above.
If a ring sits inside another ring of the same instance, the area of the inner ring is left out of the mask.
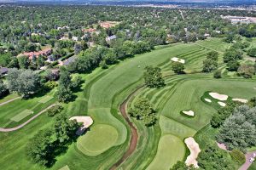
[[[157,154],[147,170],[169,170],[177,161],[185,156],[186,146],[183,140],[166,134],[160,138]]]

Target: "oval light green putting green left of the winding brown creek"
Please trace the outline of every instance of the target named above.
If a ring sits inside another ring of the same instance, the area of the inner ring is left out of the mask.
[[[77,147],[87,156],[97,156],[111,148],[118,137],[116,128],[107,124],[97,124],[79,138]]]

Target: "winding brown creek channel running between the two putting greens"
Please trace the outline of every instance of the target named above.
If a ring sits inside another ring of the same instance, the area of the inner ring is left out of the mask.
[[[131,154],[136,150],[137,147],[137,139],[138,139],[138,133],[137,133],[137,127],[134,126],[134,124],[130,121],[128,115],[127,115],[127,103],[129,100],[137,94],[137,91],[143,87],[137,88],[135,91],[133,91],[126,99],[125,101],[120,105],[119,111],[121,111],[122,116],[125,118],[125,121],[128,122],[129,126],[131,127],[131,141],[129,144],[128,150],[125,151],[125,154],[117,161],[111,168],[110,170],[117,169],[119,165],[125,162],[125,160],[131,156]]]

